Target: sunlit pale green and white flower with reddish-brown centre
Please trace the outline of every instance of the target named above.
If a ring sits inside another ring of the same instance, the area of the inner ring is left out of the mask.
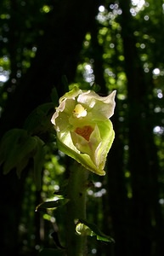
[[[110,121],[115,96],[116,90],[102,97],[75,87],[59,99],[51,119],[59,149],[99,175],[105,175],[106,157],[115,137]]]

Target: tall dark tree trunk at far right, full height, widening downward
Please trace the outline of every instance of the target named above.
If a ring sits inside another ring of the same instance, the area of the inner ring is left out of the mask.
[[[151,83],[145,82],[146,75],[135,47],[134,20],[129,6],[130,1],[120,1],[128,90],[129,170],[133,190],[129,248],[133,256],[163,255],[160,241],[163,224],[157,183],[159,166],[149,102],[152,88]]]

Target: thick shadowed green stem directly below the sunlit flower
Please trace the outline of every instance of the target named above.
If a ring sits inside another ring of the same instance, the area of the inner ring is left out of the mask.
[[[67,205],[67,256],[86,256],[87,237],[76,234],[78,219],[86,219],[88,170],[79,164],[71,168],[68,183],[69,203]]]

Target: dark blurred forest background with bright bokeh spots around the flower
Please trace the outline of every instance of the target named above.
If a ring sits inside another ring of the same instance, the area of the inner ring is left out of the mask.
[[[29,115],[74,84],[117,91],[106,176],[92,174],[88,190],[88,219],[116,243],[91,237],[88,255],[164,255],[163,27],[162,0],[0,1],[0,137],[26,129],[47,147],[39,190],[30,156],[20,179],[15,170],[4,175],[2,162],[1,256],[54,247],[53,230],[64,241],[64,210],[35,212],[69,172],[70,159],[52,143],[55,104]],[[12,151],[14,136],[8,143]]]

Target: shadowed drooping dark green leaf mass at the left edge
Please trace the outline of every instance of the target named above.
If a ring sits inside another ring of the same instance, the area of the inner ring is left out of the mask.
[[[44,143],[39,137],[31,137],[23,129],[13,129],[6,132],[0,143],[0,165],[3,164],[3,174],[8,174],[14,168],[18,177],[33,158],[34,179],[37,189],[41,189],[42,166],[44,160]]]

